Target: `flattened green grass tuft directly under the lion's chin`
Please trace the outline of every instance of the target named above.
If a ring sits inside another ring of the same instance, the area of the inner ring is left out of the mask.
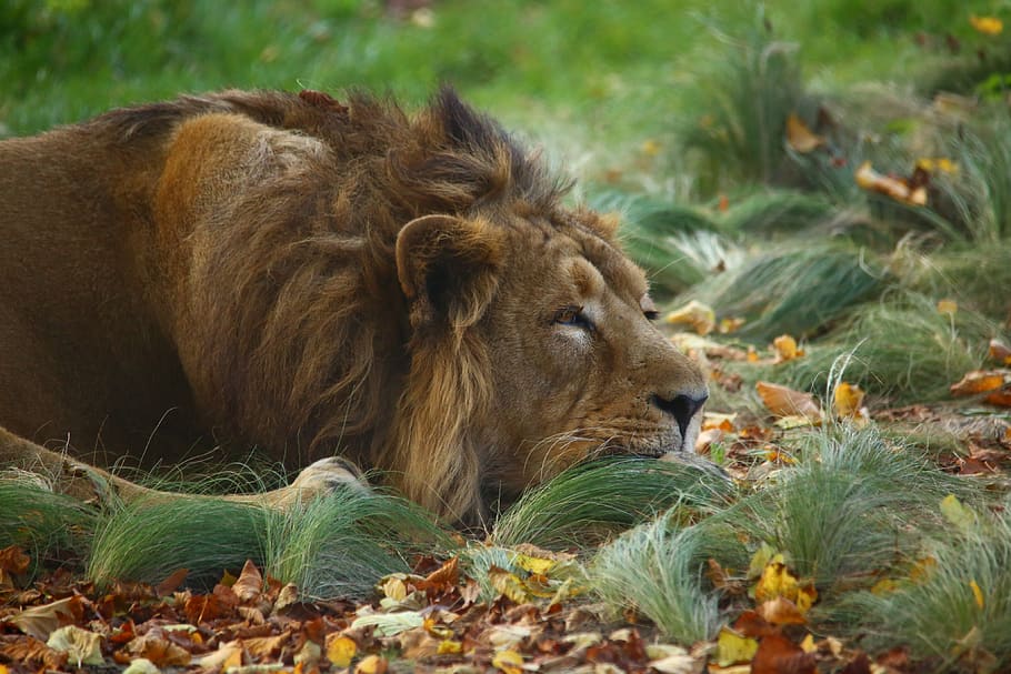
[[[732,487],[700,469],[612,456],[577,465],[529,490],[499,517],[497,545],[532,543],[585,550],[675,507],[689,522],[729,496]]]

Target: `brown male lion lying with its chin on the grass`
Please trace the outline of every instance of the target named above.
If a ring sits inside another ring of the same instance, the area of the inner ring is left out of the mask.
[[[468,521],[588,457],[691,453],[705,378],[569,190],[450,88],[413,114],[223,91],[4,140],[0,461],[130,496],[90,465],[259,447],[319,485],[340,456]]]

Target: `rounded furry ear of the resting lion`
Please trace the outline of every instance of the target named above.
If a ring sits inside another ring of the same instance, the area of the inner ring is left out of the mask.
[[[407,223],[397,237],[397,275],[411,323],[477,323],[499,283],[502,239],[480,220],[424,215]]]

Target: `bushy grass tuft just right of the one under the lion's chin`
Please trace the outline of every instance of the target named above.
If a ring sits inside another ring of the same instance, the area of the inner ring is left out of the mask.
[[[884,442],[873,427],[830,424],[805,443],[798,465],[774,473],[720,517],[787,553],[822,587],[908,559],[920,536],[939,526],[940,500],[972,493],[968,482]]]

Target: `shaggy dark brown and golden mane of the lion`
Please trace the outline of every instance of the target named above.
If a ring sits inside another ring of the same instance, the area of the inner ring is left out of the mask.
[[[230,112],[293,132],[269,172],[218,214],[191,283],[201,368],[226,437],[284,450],[291,465],[342,453],[454,517],[480,502],[468,422],[491,394],[486,345],[414,334],[397,234],[420,215],[525,203],[561,221],[568,182],[443,88],[409,117],[361,92],[340,103],[227,91],[118,110],[92,124],[120,143],[167,143],[197,115]],[[287,163],[286,163],[287,161]]]

